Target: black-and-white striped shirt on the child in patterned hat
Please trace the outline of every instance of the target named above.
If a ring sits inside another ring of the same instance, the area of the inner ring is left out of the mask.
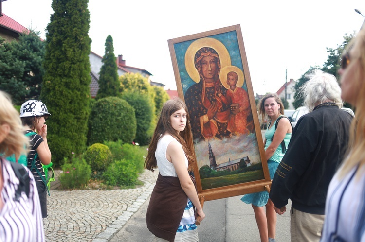
[[[27,130],[25,132],[31,133],[33,131]],[[44,140],[40,135],[34,134],[34,135],[29,136],[29,152],[28,152],[28,156],[27,156],[27,160],[28,160],[27,167],[29,169],[32,168],[32,161],[34,159],[34,156],[37,153],[37,148],[43,141]],[[42,167],[42,163],[40,162],[39,155],[37,156],[37,159],[36,159],[36,166],[37,166],[39,172],[42,174],[43,178],[45,178],[45,173],[44,173],[44,170]],[[35,169],[33,169],[31,171],[32,171],[34,179],[36,179],[36,181],[42,181],[42,179],[40,178],[39,174],[37,173],[37,171]]]

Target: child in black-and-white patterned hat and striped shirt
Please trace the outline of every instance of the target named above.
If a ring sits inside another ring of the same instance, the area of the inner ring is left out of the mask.
[[[30,145],[27,156],[27,167],[31,170],[36,180],[43,218],[47,217],[47,187],[43,181],[45,180],[45,173],[42,164],[48,165],[51,163],[51,151],[48,147],[47,125],[45,124],[49,116],[51,114],[48,112],[46,105],[41,101],[29,100],[21,105],[20,119],[27,129],[25,134],[37,131],[37,133],[29,136]],[[34,164],[37,169],[32,167],[34,159]]]

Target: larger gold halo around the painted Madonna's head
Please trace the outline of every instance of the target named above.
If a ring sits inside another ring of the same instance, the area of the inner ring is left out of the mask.
[[[185,68],[190,78],[196,83],[199,82],[200,76],[198,70],[195,68],[194,57],[197,51],[203,47],[213,48],[218,53],[220,69],[231,65],[231,57],[229,56],[228,50],[222,42],[214,38],[201,38],[195,40],[186,50]]]

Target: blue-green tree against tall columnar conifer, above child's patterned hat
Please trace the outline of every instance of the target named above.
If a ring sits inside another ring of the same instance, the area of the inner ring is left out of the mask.
[[[39,37],[39,32],[30,31],[21,34],[18,41],[13,41],[13,54],[15,58],[24,63],[21,81],[29,90],[21,103],[29,99],[39,99],[41,84],[44,75],[44,42]],[[19,103],[20,104],[20,103]]]

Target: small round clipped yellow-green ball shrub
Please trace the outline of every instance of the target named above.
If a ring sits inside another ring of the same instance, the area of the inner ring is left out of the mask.
[[[92,172],[103,172],[113,161],[108,146],[100,143],[91,145],[84,153],[86,162],[91,166]]]

